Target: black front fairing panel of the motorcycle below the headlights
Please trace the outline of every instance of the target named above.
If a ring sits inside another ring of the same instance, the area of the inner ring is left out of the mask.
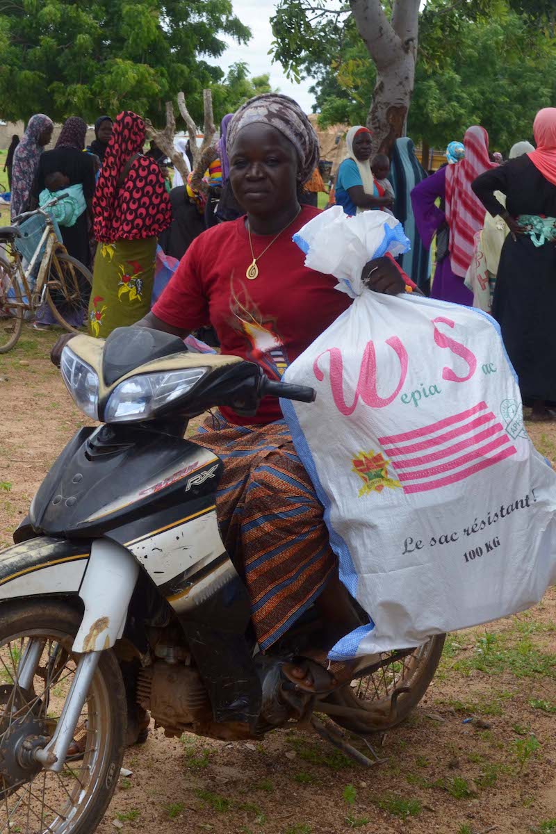
[[[97,538],[122,525],[144,527],[148,515],[164,510],[170,523],[189,515],[189,502],[198,496],[213,495],[221,470],[212,452],[156,430],[83,429],[39,487],[31,523],[37,532],[72,538]]]

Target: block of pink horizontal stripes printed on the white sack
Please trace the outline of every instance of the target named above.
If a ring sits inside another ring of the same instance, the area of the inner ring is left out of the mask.
[[[456,484],[517,453],[484,402],[421,429],[379,437],[405,493]]]

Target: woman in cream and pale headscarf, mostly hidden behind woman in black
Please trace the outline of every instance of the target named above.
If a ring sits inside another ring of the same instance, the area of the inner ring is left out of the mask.
[[[509,152],[509,158],[517,159],[523,153],[533,150],[530,142],[516,142]],[[494,196],[505,208],[506,195],[496,191]],[[508,226],[503,219],[499,215],[493,217],[490,212],[484,216],[483,229],[475,234],[473,259],[465,275],[465,286],[473,293],[473,307],[482,309],[484,313],[492,313],[498,264],[507,234]]]

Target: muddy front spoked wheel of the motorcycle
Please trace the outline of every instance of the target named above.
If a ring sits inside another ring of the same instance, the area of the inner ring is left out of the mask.
[[[79,616],[50,602],[3,607],[0,834],[90,834],[113,795],[123,759],[127,711],[118,662],[103,652],[63,771],[45,771],[33,753],[53,735],[72,685]],[[26,686],[19,686],[18,676],[26,673]]]

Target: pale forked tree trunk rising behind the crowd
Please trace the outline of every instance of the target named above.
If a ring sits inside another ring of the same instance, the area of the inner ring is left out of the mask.
[[[380,0],[350,0],[358,32],[377,68],[368,111],[373,150],[391,155],[403,136],[415,81],[419,0],[393,0],[392,20]]]

